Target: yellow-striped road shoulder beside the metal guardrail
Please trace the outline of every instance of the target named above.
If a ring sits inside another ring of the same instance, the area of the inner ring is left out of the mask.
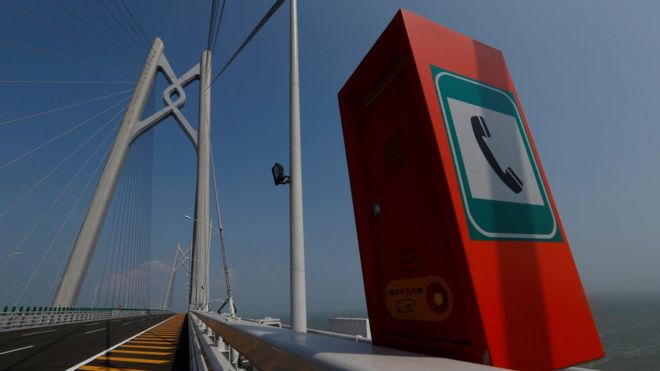
[[[106,352],[79,370],[187,370],[188,327],[185,314]]]

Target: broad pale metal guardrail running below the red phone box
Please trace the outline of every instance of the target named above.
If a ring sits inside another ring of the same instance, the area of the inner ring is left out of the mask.
[[[210,330],[259,370],[496,370],[495,367],[426,356],[194,311]]]

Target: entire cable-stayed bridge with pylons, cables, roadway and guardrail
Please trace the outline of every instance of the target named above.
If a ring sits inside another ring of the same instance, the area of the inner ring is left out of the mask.
[[[208,22],[207,47],[200,51],[199,62],[185,71],[175,71],[166,53],[166,40],[145,31],[132,3],[82,1],[74,5],[53,1],[44,10],[36,3],[0,1],[4,24],[18,22],[57,41],[50,48],[37,43],[41,40],[10,34],[12,37],[0,40],[3,49],[13,50],[25,60],[37,58],[44,65],[71,64],[65,71],[93,77],[20,77],[0,84],[15,89],[41,87],[44,101],[58,101],[53,99],[55,86],[114,89],[98,95],[85,93],[75,102],[0,121],[0,128],[15,128],[10,132],[13,138],[5,137],[2,177],[28,178],[21,182],[27,186],[6,192],[0,204],[0,274],[3,280],[18,282],[14,286],[19,287],[2,295],[2,300],[9,302],[0,305],[0,369],[480,368],[372,346],[366,333],[307,328],[296,0],[288,2],[289,174],[284,175],[281,166],[273,168],[276,185],[286,184],[290,192],[291,325],[274,318],[239,317],[231,290],[213,162],[211,92],[285,1],[276,0],[264,9],[216,72],[213,54],[225,3],[211,1],[209,18],[204,20]],[[62,40],[82,48],[85,56],[57,49]],[[139,75],[126,69],[128,62],[136,59],[142,60]],[[38,69],[31,71],[35,76],[44,75]],[[97,79],[102,73],[112,78]],[[122,80],[116,79],[119,75]],[[165,81],[164,85],[159,86],[158,79]],[[193,83],[198,85],[194,92]],[[124,89],[116,90],[118,86]],[[190,100],[197,103],[192,115],[183,109]],[[105,106],[90,108],[99,103]],[[157,303],[151,292],[149,267],[153,129],[168,119],[176,121],[195,152],[196,186],[194,214],[186,216],[192,221],[192,238],[188,247],[177,243],[174,248],[172,243],[164,300]],[[51,120],[53,127],[35,134],[40,130],[30,128],[35,120]],[[27,131],[21,131],[21,125]],[[74,138],[80,133],[85,134],[76,145]],[[27,149],[10,145],[25,136]],[[57,145],[60,152],[49,151]],[[43,172],[43,166],[35,167],[34,173],[25,172],[31,161],[48,165]],[[64,173],[71,168],[73,172]],[[57,185],[53,179],[64,181]],[[81,181],[82,187],[78,187]],[[3,183],[3,187],[10,189],[11,184]],[[77,216],[79,224],[75,222]],[[71,243],[64,241],[67,235],[75,237]],[[225,295],[221,299],[211,297],[214,280],[210,254],[215,235],[222,257],[218,278],[224,280]],[[30,261],[21,261],[26,256]],[[175,313],[176,273],[183,271],[187,312]],[[212,309],[217,303],[221,303],[220,308]],[[357,322],[363,329],[367,327],[364,320]]]

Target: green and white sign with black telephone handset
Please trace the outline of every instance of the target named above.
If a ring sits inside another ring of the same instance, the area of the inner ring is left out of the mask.
[[[561,241],[513,94],[432,66],[470,237]]]

